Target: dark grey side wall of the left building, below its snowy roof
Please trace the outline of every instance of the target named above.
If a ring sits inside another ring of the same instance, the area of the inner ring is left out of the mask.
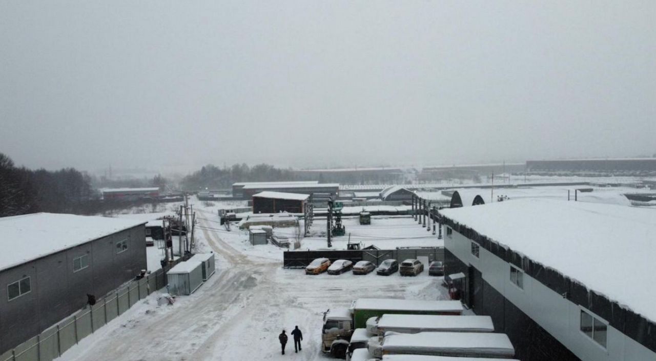
[[[127,250],[117,254],[125,239]],[[145,239],[140,225],[0,271],[0,354],[83,307],[87,293],[100,299],[146,269]],[[73,272],[73,259],[85,254],[89,266]],[[9,301],[7,285],[25,276],[30,293]]]

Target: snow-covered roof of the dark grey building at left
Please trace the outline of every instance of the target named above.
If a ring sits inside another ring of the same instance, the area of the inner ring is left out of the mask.
[[[97,240],[145,221],[55,213],[0,218],[0,270]]]

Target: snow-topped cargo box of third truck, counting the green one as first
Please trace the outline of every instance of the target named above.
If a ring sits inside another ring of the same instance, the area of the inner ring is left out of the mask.
[[[505,333],[420,332],[386,333],[383,350],[426,352],[440,350],[447,354],[485,354],[514,356],[515,349]]]

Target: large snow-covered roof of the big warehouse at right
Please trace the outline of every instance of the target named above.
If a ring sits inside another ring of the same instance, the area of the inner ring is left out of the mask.
[[[440,213],[656,321],[656,209],[525,199]]]

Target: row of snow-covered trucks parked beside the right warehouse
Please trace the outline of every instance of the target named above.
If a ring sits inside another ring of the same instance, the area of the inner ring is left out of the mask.
[[[510,339],[489,316],[463,316],[460,301],[358,299],[323,314],[321,350],[349,361],[512,359]]]

